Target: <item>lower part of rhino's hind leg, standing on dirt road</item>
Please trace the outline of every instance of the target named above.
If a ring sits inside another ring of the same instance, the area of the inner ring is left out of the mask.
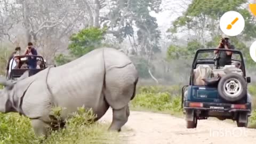
[[[121,127],[128,121],[129,115],[130,110],[128,105],[122,109],[113,109],[113,120],[109,130],[121,131]]]

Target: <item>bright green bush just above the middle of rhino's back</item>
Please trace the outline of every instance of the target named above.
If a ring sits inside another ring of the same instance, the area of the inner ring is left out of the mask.
[[[105,34],[106,28],[100,29],[91,27],[82,29],[77,34],[73,34],[70,37],[71,42],[68,46],[68,50],[70,50],[70,53],[74,57],[79,58],[100,47]]]

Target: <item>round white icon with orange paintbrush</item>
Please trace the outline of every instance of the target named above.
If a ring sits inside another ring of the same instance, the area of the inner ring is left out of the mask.
[[[244,30],[244,18],[236,11],[229,11],[220,18],[220,29],[228,36],[237,36]]]

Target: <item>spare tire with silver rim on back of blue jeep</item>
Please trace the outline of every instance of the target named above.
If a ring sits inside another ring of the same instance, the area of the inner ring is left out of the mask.
[[[218,84],[218,93],[227,101],[238,101],[247,94],[247,84],[243,76],[229,73],[221,77]]]

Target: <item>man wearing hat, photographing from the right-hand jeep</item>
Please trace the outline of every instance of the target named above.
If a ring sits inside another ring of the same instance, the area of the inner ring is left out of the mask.
[[[216,47],[216,49],[231,49],[234,50],[235,46],[231,45],[229,43],[229,37],[225,34],[222,35],[222,38],[220,39],[219,45]],[[224,67],[225,65],[231,65],[231,57],[232,52],[231,51],[218,51],[215,50],[214,54],[219,55],[219,67]]]

